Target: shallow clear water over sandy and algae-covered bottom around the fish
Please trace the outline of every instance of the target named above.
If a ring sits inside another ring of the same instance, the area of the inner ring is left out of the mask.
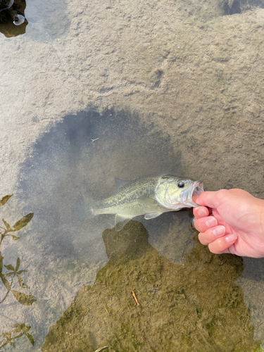
[[[27,1],[25,34],[1,34],[1,216],[34,213],[1,245],[29,287],[1,332],[31,327],[3,351],[261,351],[262,258],[211,254],[186,210],[121,232],[71,215],[149,174],[264,198],[262,7]]]

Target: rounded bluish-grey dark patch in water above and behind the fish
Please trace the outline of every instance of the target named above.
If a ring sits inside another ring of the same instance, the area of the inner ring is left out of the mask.
[[[45,251],[56,257],[94,258],[98,252],[87,246],[91,241],[99,244],[99,234],[113,225],[113,216],[99,215],[73,224],[71,213],[80,192],[99,200],[113,194],[115,177],[133,180],[149,174],[181,174],[181,170],[180,153],[175,155],[170,139],[155,126],[147,130],[138,115],[127,111],[90,109],[66,116],[39,139],[23,165],[18,189],[25,203],[34,208]],[[178,218],[186,216],[179,214]],[[150,226],[159,230],[164,226],[163,215],[160,218],[149,220]],[[167,226],[172,221],[169,215]],[[76,231],[78,236],[73,236]]]

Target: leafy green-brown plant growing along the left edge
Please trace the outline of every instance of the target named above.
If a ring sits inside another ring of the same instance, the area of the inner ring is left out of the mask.
[[[4,206],[8,199],[11,198],[13,194],[4,196],[0,201],[0,206]],[[20,276],[23,272],[27,272],[27,270],[19,270],[20,269],[20,258],[17,258],[15,268],[12,264],[4,265],[4,256],[1,253],[1,244],[4,241],[4,238],[11,236],[14,241],[18,240],[19,237],[13,234],[13,232],[18,232],[23,227],[25,227],[28,222],[32,220],[34,213],[29,213],[25,215],[23,218],[15,222],[15,225],[11,226],[6,222],[6,220],[2,219],[4,226],[0,226],[0,279],[4,287],[6,287],[6,294],[3,298],[0,298],[0,304],[3,303],[8,295],[11,293],[15,297],[15,299],[23,306],[31,306],[34,301],[37,301],[33,295],[27,295],[20,291],[15,291],[12,289],[15,278],[18,279],[18,283],[22,289],[28,289],[28,286],[23,282],[22,277]],[[3,270],[6,268],[8,272],[4,273]],[[2,332],[0,334],[0,348],[6,346],[7,344],[11,346],[15,346],[13,340],[18,339],[25,335],[27,339],[30,340],[31,344],[34,345],[34,339],[31,334],[28,333],[30,330],[30,326],[27,327],[25,322],[23,324],[15,324],[13,325],[13,330],[9,332]]]

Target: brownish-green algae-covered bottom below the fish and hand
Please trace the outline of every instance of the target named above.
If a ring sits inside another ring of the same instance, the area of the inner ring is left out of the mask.
[[[144,226],[105,230],[109,261],[83,286],[46,336],[48,351],[254,351],[250,311],[235,284],[242,258],[202,246],[175,265],[148,242]],[[207,287],[208,289],[204,289]],[[134,300],[132,293],[135,295]]]

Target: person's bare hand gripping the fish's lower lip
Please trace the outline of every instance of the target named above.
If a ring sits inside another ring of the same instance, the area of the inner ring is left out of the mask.
[[[243,189],[205,191],[193,198],[201,244],[215,254],[264,257],[264,201]]]

